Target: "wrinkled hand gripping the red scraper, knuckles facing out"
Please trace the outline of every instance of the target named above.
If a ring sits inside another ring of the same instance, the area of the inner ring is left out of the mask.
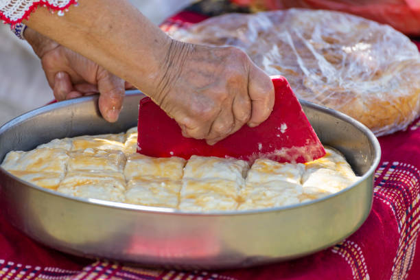
[[[244,124],[258,126],[275,101],[268,75],[235,47],[205,47],[173,41],[165,73],[152,96],[185,137],[214,143]]]

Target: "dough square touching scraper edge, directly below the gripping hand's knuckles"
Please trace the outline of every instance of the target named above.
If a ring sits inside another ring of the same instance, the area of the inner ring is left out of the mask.
[[[244,185],[244,177],[249,170],[246,161],[222,159],[215,156],[191,156],[185,165],[183,178],[232,180]]]

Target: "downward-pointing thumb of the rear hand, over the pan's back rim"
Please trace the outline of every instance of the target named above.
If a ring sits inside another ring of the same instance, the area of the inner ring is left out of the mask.
[[[102,117],[109,122],[117,121],[126,93],[124,80],[105,69],[100,69],[97,75],[97,89],[100,92],[99,108]]]

